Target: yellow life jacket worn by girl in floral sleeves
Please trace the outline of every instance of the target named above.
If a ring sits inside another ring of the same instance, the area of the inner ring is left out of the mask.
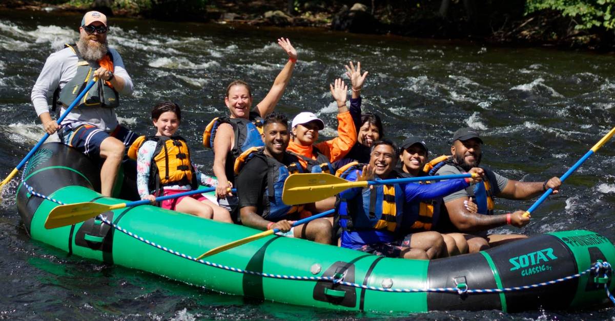
[[[156,150],[149,171],[150,190],[159,190],[165,185],[192,185],[196,188],[196,176],[190,163],[190,150],[181,136],[140,136],[128,150],[128,157],[137,159],[138,150],[146,141],[155,141]]]

